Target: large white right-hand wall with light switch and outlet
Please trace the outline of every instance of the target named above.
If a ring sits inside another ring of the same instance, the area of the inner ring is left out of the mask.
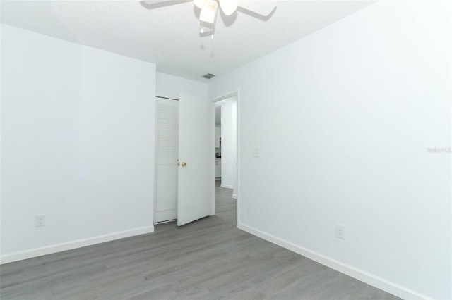
[[[452,298],[452,154],[427,152],[451,146],[450,15],[382,1],[210,84],[240,89],[242,228],[399,295]]]

